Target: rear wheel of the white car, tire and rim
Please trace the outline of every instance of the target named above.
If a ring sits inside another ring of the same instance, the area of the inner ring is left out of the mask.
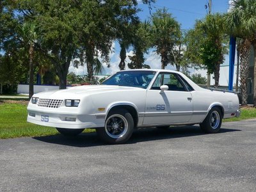
[[[220,131],[221,123],[221,111],[219,108],[214,107],[209,111],[204,122],[200,124],[200,128],[206,133],[216,133]]]

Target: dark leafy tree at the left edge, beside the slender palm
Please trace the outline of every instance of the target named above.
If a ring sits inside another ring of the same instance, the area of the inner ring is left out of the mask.
[[[24,77],[27,69],[22,67],[22,60],[26,55],[19,50],[19,38],[17,26],[19,20],[10,9],[9,1],[0,1],[0,92],[4,88],[17,88],[19,80]],[[12,90],[11,90],[12,91]]]

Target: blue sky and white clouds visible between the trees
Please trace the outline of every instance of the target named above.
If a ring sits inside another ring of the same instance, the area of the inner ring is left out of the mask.
[[[202,19],[207,14],[205,4],[208,4],[209,0],[156,0],[156,3],[152,4],[152,10],[149,11],[148,5],[139,2],[139,8],[141,12],[138,13],[140,19],[146,20],[150,17],[150,12],[154,13],[159,8],[167,8],[169,13],[172,13],[173,17],[180,23],[181,29],[191,29],[195,25],[195,20]],[[228,10],[228,0],[212,0],[212,13],[220,12],[225,13]],[[105,72],[104,75],[114,74],[119,70],[118,64],[120,47],[118,42],[113,42],[112,52],[109,53],[111,59],[110,67],[106,67],[106,63],[103,63]],[[129,63],[128,56],[133,54],[132,48],[127,51],[126,64]],[[151,68],[160,68],[161,59],[160,56],[154,52],[154,49],[150,49],[148,54],[145,54],[145,64],[150,65]],[[228,65],[228,56],[224,62]],[[128,68],[128,67],[126,67]],[[175,67],[168,65],[166,69],[175,70]],[[70,72],[75,72],[77,75],[84,75],[87,73],[86,67],[74,68],[70,66]]]

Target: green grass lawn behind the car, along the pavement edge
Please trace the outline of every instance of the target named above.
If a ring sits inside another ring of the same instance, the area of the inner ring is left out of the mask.
[[[58,134],[54,127],[44,127],[27,122],[28,100],[0,100],[0,138],[18,138],[23,136],[47,136]],[[239,118],[230,118],[223,122],[256,118],[256,108],[243,108]],[[85,129],[84,132],[94,132]]]

